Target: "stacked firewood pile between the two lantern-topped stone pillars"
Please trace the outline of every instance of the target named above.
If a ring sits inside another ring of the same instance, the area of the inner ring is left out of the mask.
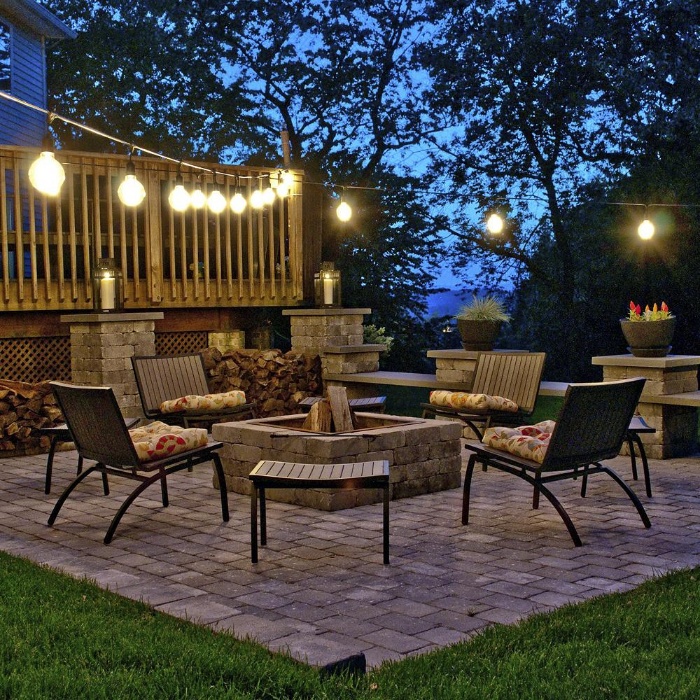
[[[258,418],[299,412],[299,402],[321,392],[321,359],[281,350],[202,351],[212,393],[242,389]]]

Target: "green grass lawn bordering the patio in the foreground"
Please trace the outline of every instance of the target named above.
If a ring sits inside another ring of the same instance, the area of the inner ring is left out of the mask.
[[[323,678],[253,643],[0,553],[0,697],[700,697],[700,569]]]

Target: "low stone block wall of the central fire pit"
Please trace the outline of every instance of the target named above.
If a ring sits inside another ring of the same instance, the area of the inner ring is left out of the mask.
[[[248,474],[261,459],[310,464],[386,459],[390,465],[392,499],[459,487],[461,424],[384,414],[358,413],[357,416],[366,427],[338,434],[309,433],[287,427],[293,422],[292,416],[214,425],[214,439],[225,443],[220,454],[226,488],[250,494]],[[218,488],[216,475],[214,485]],[[378,503],[381,491],[269,489],[266,497],[333,511]]]

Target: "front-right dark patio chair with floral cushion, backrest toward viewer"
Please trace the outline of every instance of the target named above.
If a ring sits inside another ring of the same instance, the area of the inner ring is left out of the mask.
[[[518,476],[533,486],[533,508],[539,506],[540,494],[547,498],[564,521],[577,547],[582,544],[581,538],[565,508],[546,484],[580,478],[581,496],[585,497],[588,477],[599,472],[605,473],[627,494],[644,526],[651,527],[646,511],[634,491],[613,469],[601,463],[602,460],[617,456],[622,443],[627,439],[627,431],[644,382],[644,378],[634,378],[569,385],[548,445],[546,440],[537,444],[538,441],[534,438],[519,439],[517,435],[508,439],[505,433],[503,439],[498,440],[498,428],[489,431],[485,440],[496,438],[495,444],[507,446],[512,452],[479,442],[468,442],[466,448],[474,454],[469,457],[464,477],[462,524],[469,522],[471,482],[474,466],[478,463],[484,471],[493,467]],[[523,454],[534,458],[522,456]]]

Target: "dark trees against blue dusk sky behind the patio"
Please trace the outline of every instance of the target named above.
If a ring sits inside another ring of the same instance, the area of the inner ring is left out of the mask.
[[[700,353],[700,4],[694,0],[46,0],[50,109],[175,158],[295,167],[327,183],[324,255],[373,309],[387,366],[419,370],[440,269],[502,289],[510,347],[597,376],[631,299],[666,301]],[[60,130],[67,148],[105,151]],[[342,185],[355,217],[332,216]],[[335,199],[334,199],[335,198]],[[485,215],[507,215],[499,238]],[[457,309],[455,309],[455,312]]]

